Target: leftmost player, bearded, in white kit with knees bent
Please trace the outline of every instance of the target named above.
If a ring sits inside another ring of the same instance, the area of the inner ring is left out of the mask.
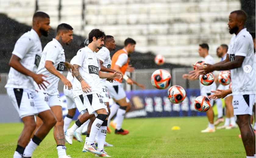
[[[49,24],[48,14],[36,12],[33,16],[32,29],[17,40],[9,62],[11,68],[5,88],[24,123],[13,158],[31,157],[34,150],[28,148],[33,146],[35,149],[56,123],[52,111],[38,96],[33,83],[35,81],[39,88],[47,88],[45,83],[48,82],[43,78],[46,76],[36,74],[36,71],[42,54],[40,37],[48,36],[51,28]],[[34,116],[37,114],[44,122],[27,146],[36,128]],[[31,153],[30,156],[24,154],[25,147],[26,153]]]

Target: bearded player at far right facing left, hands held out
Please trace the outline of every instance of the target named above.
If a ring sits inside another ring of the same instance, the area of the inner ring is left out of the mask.
[[[234,115],[237,117],[247,158],[255,157],[255,134],[250,125],[253,99],[255,97],[255,60],[254,44],[250,33],[245,28],[247,15],[243,10],[236,10],[229,15],[229,33],[232,36],[226,60],[207,67],[197,67],[191,71],[192,78],[213,70],[231,70]],[[246,65],[251,65],[247,73]],[[254,67],[253,67],[254,66]]]

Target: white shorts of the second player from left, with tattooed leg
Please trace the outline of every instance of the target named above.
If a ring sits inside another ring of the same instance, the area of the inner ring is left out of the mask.
[[[45,92],[38,92],[39,96],[47,103],[49,107],[51,106],[61,106],[61,101],[59,94],[51,95]]]

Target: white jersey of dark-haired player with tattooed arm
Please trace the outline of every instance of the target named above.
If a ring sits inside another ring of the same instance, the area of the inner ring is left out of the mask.
[[[73,64],[80,66],[79,73],[81,77],[89,86],[91,86],[91,92],[83,92],[83,96],[94,93],[100,94],[102,84],[100,83],[99,77],[99,70],[101,67],[98,55],[86,46],[78,50]],[[74,79],[74,86],[80,87],[81,89],[81,84],[76,78]],[[73,89],[73,97],[75,98],[78,95],[80,95],[80,91]]]

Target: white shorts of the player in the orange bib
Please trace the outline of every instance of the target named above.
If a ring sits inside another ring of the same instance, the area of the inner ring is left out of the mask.
[[[106,86],[108,87],[108,94],[110,98],[120,100],[126,97],[122,83],[117,81],[114,81],[113,83],[106,82]]]

